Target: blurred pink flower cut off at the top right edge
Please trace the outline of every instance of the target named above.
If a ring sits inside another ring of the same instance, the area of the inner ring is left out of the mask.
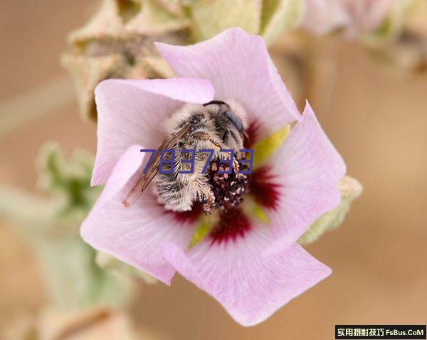
[[[305,28],[317,34],[344,29],[353,38],[378,28],[393,0],[306,0],[305,4]]]

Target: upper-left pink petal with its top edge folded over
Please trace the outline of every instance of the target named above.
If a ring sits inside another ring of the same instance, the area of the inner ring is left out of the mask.
[[[91,184],[104,184],[130,145],[157,149],[164,138],[161,122],[184,102],[203,104],[213,97],[214,88],[203,79],[102,81],[95,89],[98,144]]]

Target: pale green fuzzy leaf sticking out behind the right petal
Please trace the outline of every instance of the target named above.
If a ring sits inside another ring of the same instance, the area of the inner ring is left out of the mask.
[[[338,228],[344,221],[346,214],[349,211],[350,204],[362,194],[362,185],[352,177],[344,176],[338,184],[339,192],[341,193],[341,202],[332,211],[323,214],[315,223],[312,224],[309,230],[301,236],[298,243],[305,245],[312,243],[327,230]]]

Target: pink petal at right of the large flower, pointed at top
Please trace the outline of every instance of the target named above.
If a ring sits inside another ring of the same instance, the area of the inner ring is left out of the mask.
[[[276,240],[265,255],[288,248],[317,218],[338,205],[337,184],[346,171],[308,102],[302,119],[273,157],[280,201],[269,212]]]

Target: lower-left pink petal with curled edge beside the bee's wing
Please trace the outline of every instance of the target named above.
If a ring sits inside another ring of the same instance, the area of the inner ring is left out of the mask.
[[[133,145],[117,162],[100,198],[83,221],[80,234],[93,248],[169,285],[175,270],[162,258],[162,244],[174,242],[186,248],[194,230],[164,213],[149,192],[144,192],[130,208],[123,206],[122,200],[141,170],[143,156],[139,149],[143,148]]]

